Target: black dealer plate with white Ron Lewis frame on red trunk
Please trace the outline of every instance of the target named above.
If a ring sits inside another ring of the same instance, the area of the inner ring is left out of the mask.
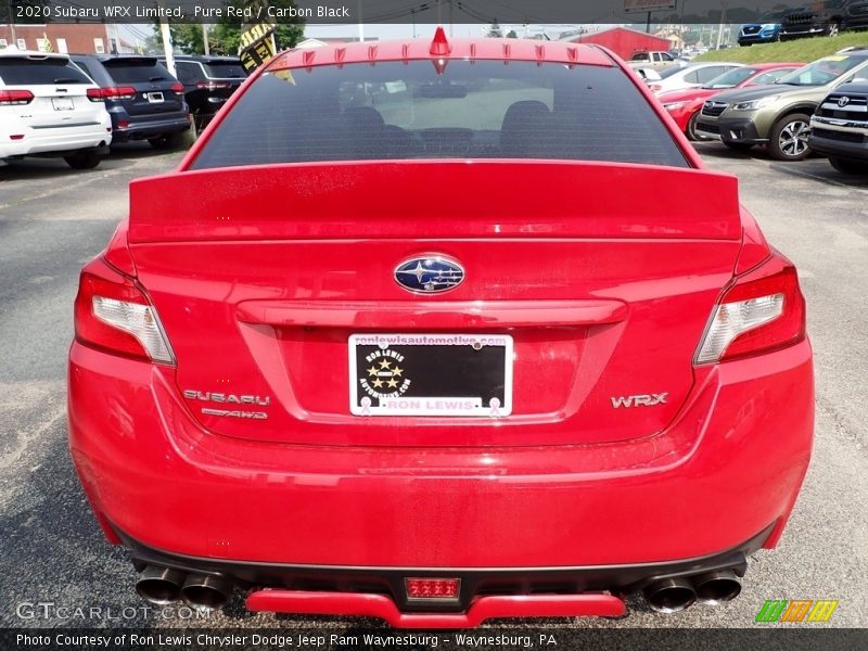
[[[501,418],[512,412],[512,337],[353,334],[354,416]]]

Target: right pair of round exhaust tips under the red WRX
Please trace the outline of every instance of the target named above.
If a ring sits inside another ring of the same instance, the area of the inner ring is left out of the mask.
[[[741,592],[732,570],[718,570],[689,578],[664,578],[644,588],[648,604],[659,613],[677,613],[697,601],[717,605],[732,601]]]

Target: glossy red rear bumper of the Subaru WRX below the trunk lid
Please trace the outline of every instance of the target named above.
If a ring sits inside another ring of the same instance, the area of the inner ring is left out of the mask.
[[[514,448],[266,444],[203,431],[170,369],[73,344],[73,459],[110,538],[214,562],[576,567],[733,549],[777,523],[807,469],[804,341],[698,371],[642,439]]]

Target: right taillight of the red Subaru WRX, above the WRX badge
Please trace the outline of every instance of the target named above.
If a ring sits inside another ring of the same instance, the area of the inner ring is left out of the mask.
[[[805,339],[805,299],[795,267],[775,255],[738,278],[712,311],[697,363],[769,353]]]

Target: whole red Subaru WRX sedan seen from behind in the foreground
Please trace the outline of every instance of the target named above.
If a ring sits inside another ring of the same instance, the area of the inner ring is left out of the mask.
[[[720,602],[810,454],[793,265],[591,46],[278,55],[132,182],[75,320],[73,458],[155,602]]]

